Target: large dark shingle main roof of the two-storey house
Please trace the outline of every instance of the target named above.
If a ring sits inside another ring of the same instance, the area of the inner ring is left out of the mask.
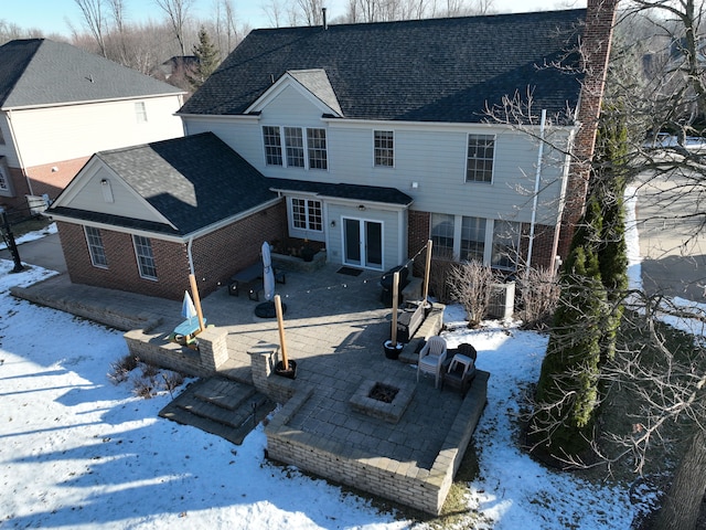
[[[474,123],[503,96],[534,92],[535,108],[574,108],[585,10],[256,30],[183,106],[243,114],[287,71],[321,68],[349,118]]]

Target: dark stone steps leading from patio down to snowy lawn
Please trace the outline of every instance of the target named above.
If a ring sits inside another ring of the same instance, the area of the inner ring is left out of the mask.
[[[189,385],[159,415],[240,445],[275,405],[252,385],[215,377]]]

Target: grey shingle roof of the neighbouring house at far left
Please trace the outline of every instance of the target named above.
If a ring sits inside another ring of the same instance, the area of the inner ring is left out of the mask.
[[[0,108],[183,94],[69,44],[47,39],[0,46]]]

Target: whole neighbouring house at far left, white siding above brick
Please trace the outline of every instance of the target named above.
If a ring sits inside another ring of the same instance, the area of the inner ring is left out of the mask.
[[[183,136],[183,94],[68,44],[0,46],[0,205],[54,199],[96,151]]]

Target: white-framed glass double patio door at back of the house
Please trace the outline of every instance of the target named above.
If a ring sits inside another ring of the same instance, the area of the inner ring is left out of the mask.
[[[382,271],[383,223],[344,218],[343,263]]]

